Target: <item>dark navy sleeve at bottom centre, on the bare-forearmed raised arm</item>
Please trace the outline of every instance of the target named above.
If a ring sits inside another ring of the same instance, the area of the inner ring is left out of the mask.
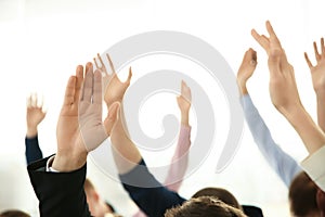
[[[131,171],[119,175],[119,178],[131,199],[150,217],[164,216],[167,209],[185,201],[177,192],[161,186],[143,159]]]

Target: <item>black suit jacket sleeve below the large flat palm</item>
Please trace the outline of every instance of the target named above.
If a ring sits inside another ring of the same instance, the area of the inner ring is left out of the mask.
[[[30,164],[28,175],[44,217],[89,217],[83,183],[86,165],[72,173],[46,171],[49,157]]]

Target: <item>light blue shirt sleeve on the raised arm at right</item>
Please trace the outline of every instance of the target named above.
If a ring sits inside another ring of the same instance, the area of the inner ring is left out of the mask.
[[[283,182],[289,187],[295,176],[301,171],[299,164],[274,142],[268,126],[249,94],[242,97],[240,103],[246,122],[260,152]]]

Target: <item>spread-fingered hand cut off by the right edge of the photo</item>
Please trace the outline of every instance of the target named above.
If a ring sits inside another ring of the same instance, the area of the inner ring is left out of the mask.
[[[316,65],[313,65],[308,56],[308,54],[304,52],[304,59],[310,68],[312,80],[313,80],[313,87],[315,92],[325,92],[325,46],[324,46],[324,38],[321,39],[321,53],[318,52],[317,44],[314,41],[314,52],[315,52],[315,59],[317,61]]]

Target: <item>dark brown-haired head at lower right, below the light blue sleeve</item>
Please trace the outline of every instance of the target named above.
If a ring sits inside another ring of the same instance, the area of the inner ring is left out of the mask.
[[[320,216],[316,202],[317,186],[301,171],[289,187],[289,203],[292,216]]]

